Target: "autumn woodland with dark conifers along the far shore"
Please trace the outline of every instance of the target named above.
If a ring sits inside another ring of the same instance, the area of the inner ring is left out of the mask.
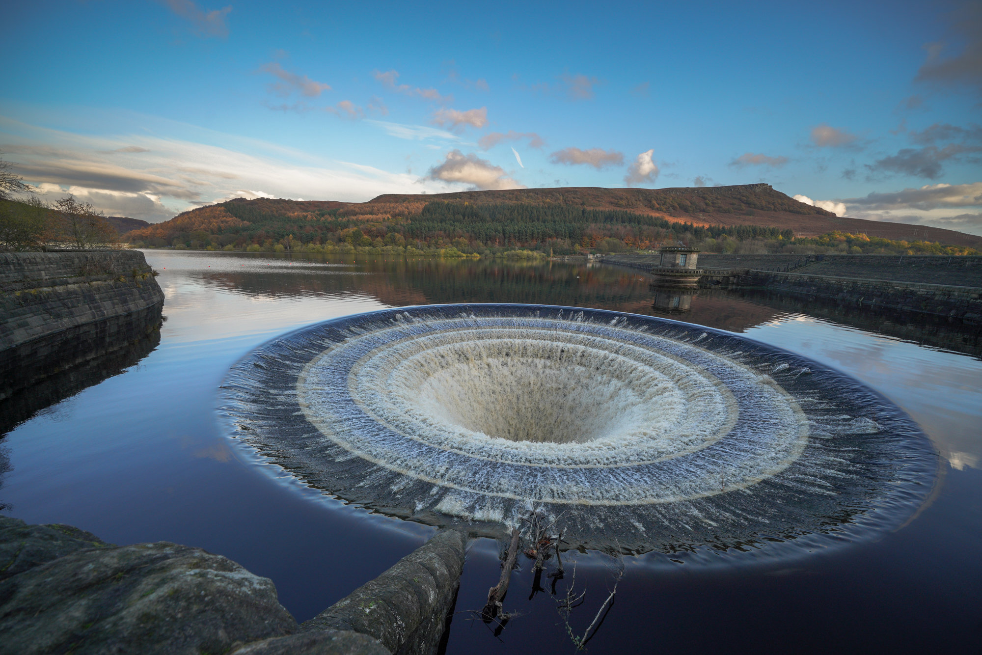
[[[195,209],[172,221],[131,233],[144,246],[286,250],[321,246],[456,247],[464,253],[497,254],[530,249],[572,254],[584,249],[645,249],[667,242],[719,239],[787,239],[791,230],[673,222],[621,209],[561,204],[470,204],[431,201],[385,205],[388,213],[351,215],[354,208],[313,202],[232,200]],[[339,203],[340,204],[340,203]],[[207,211],[206,211],[207,210]],[[370,210],[370,207],[361,211]],[[222,218],[224,216],[224,218]],[[195,218],[196,217],[196,218]]]

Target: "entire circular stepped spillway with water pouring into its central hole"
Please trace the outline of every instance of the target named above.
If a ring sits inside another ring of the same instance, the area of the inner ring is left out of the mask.
[[[246,355],[220,410],[265,462],[370,510],[500,536],[541,508],[571,546],[630,553],[862,540],[908,519],[936,466],[910,418],[838,371],[579,307],[329,320]]]

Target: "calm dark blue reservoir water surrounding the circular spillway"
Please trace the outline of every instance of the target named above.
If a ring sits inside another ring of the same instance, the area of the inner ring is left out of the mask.
[[[369,515],[240,457],[215,406],[241,356],[303,325],[397,305],[528,302],[664,315],[739,332],[863,381],[923,427],[938,452],[937,483],[899,530],[834,552],[713,570],[626,558],[615,603],[587,650],[982,648],[977,328],[702,290],[679,300],[657,292],[655,307],[644,275],[598,264],[163,250],[146,258],[166,296],[159,345],[0,440],[10,466],[0,476],[5,514],[77,525],[118,544],[173,541],[225,555],[272,578],[280,602],[305,621],[432,528]],[[669,313],[686,303],[690,311]],[[570,623],[582,634],[607,597],[614,561],[567,554],[554,597],[550,580],[533,591],[523,560],[505,603],[520,616],[496,636],[467,610],[479,610],[497,580],[498,551],[494,541],[474,543],[447,652],[573,652],[556,598],[575,562],[586,595]]]

